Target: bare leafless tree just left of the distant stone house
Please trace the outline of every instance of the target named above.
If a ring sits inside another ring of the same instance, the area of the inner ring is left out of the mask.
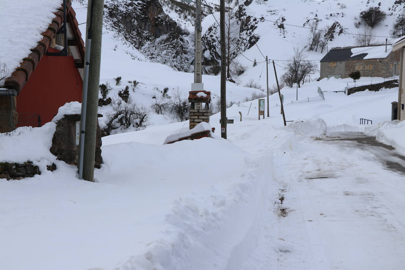
[[[304,82],[308,75],[318,71],[318,66],[307,58],[308,56],[302,50],[294,48],[294,55],[284,63],[286,72],[281,76],[281,80],[286,85],[292,87],[298,82],[298,87],[301,87],[301,82]]]

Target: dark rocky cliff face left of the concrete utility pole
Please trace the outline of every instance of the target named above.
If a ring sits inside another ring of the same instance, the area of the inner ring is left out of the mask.
[[[188,33],[162,9],[158,0],[107,0],[105,27],[151,62],[188,71]],[[129,11],[127,11],[130,9]]]

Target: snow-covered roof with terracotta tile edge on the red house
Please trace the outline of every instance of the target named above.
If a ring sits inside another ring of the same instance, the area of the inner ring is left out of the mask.
[[[0,85],[18,93],[23,88],[62,26],[62,3],[63,0],[2,0],[0,68],[6,66],[8,78],[0,81]],[[71,35],[75,41],[70,49],[76,63],[80,64],[84,59],[84,43],[71,0],[66,0],[66,10],[68,39]]]

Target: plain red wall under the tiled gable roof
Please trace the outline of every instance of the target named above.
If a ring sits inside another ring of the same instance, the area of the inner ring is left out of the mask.
[[[48,51],[58,52],[52,48]],[[81,102],[82,89],[72,56],[44,55],[17,96],[17,113],[38,113],[42,124],[47,123],[66,102]]]

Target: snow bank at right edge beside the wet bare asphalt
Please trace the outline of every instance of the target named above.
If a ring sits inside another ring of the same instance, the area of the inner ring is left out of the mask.
[[[375,138],[386,145],[391,145],[403,155],[405,154],[405,121],[385,121],[375,126],[366,127],[365,134]]]

